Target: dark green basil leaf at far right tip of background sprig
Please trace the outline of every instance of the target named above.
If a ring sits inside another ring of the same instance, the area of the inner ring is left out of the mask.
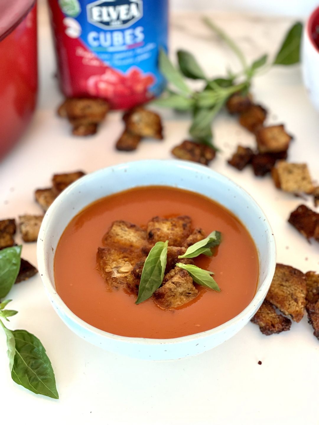
[[[273,65],[293,65],[300,62],[302,23],[295,23],[286,34]]]

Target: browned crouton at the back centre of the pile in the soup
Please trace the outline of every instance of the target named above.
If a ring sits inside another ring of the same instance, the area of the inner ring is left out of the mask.
[[[168,240],[169,246],[183,246],[191,234],[191,218],[188,215],[175,218],[154,217],[148,222],[146,232],[151,244]]]

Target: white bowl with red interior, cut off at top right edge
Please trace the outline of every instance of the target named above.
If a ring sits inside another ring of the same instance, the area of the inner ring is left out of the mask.
[[[319,48],[312,37],[316,25],[319,26],[319,7],[308,18],[302,34],[302,76],[310,100],[319,111]]]

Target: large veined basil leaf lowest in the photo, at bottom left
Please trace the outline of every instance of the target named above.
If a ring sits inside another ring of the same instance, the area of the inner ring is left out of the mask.
[[[40,340],[25,330],[12,331],[15,342],[11,377],[35,394],[59,398],[54,371]]]

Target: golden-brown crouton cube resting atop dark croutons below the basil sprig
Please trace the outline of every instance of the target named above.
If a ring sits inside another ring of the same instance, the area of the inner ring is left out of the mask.
[[[259,127],[256,129],[256,141],[260,153],[284,152],[288,150],[292,137],[286,133],[283,125]]]

